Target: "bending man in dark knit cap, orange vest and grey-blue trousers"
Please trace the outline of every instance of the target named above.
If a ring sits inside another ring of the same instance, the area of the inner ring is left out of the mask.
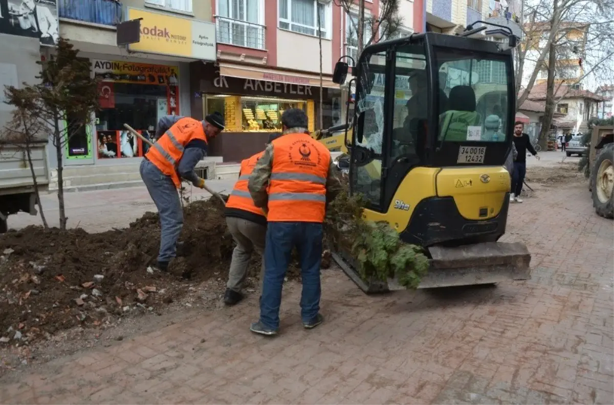
[[[207,155],[208,139],[224,129],[222,115],[215,112],[204,121],[168,115],[158,122],[157,142],[141,162],[141,178],[160,213],[160,252],[155,270],[168,271],[176,255],[177,240],[184,224],[184,214],[177,189],[181,178],[204,188],[204,179],[194,172],[196,164]]]

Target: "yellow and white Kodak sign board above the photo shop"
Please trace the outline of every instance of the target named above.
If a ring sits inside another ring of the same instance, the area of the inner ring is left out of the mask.
[[[131,51],[216,60],[216,25],[128,7],[127,20],[141,20],[141,40]]]

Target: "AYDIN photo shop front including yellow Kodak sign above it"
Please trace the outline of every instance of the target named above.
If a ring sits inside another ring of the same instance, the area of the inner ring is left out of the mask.
[[[131,7],[125,18],[141,20],[139,42],[128,45],[132,55],[113,55],[117,45],[98,47],[109,53],[79,53],[90,64],[92,77],[100,80],[99,109],[67,143],[66,165],[138,163],[149,145],[126,131],[124,124],[155,142],[161,116],[192,113],[189,62],[216,59],[212,23]],[[169,39],[151,35],[155,27],[170,32]]]

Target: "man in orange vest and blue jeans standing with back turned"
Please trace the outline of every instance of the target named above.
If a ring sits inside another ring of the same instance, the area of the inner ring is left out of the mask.
[[[268,212],[260,320],[250,328],[261,335],[279,331],[281,290],[294,247],[303,281],[303,327],[314,328],[324,321],[319,312],[322,222],[326,203],[341,190],[330,152],[309,136],[305,112],[289,108],[281,123],[282,136],[266,146],[247,185],[254,205]]]

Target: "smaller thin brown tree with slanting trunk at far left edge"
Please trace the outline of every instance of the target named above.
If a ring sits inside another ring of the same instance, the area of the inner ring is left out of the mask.
[[[44,123],[36,115],[36,93],[31,88],[17,89],[11,86],[4,91],[4,94],[7,104],[14,105],[15,110],[13,110],[12,119],[2,129],[0,137],[2,143],[17,147],[28,159],[34,195],[36,195],[36,203],[41,213],[42,224],[45,229],[49,229],[45,213],[42,209],[39,184],[36,180],[36,172],[34,171],[32,161],[33,146],[36,143],[47,142],[49,128],[45,127]]]

